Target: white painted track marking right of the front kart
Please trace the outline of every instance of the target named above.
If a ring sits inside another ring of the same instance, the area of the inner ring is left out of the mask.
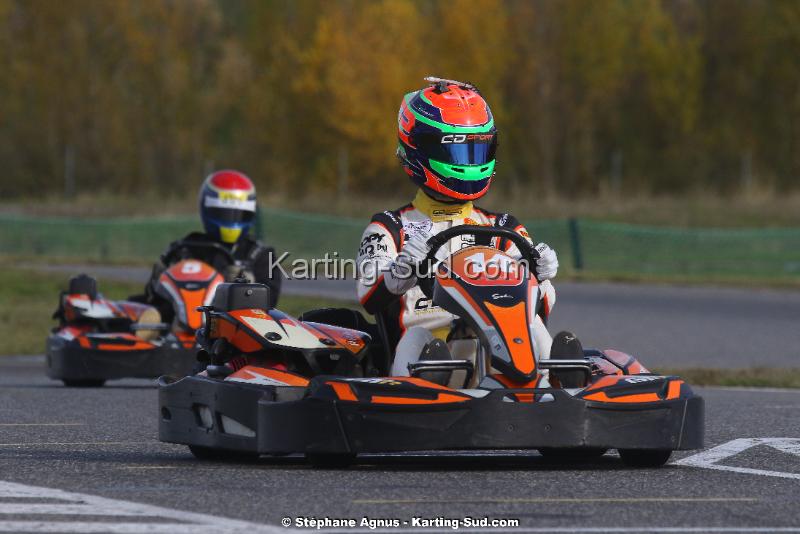
[[[726,458],[730,458],[751,447],[757,447],[759,445],[767,445],[775,450],[800,456],[800,438],[739,438],[718,445],[713,449],[708,449],[707,451],[678,460],[675,462],[675,465],[800,480],[800,473],[783,473],[781,471],[768,471],[765,469],[752,469],[749,467],[734,467],[719,464],[719,462]]]

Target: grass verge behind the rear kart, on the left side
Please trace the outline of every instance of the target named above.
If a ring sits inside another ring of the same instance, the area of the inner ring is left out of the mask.
[[[52,319],[58,305],[59,292],[67,287],[68,276],[32,273],[0,266],[0,355],[42,354]],[[124,299],[141,293],[141,284],[100,280],[99,289],[110,299]],[[279,308],[290,314],[333,306],[348,305],[340,301],[308,297],[281,296]]]

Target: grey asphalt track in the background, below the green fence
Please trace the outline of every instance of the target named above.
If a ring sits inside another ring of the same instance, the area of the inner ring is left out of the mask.
[[[36,265],[144,282],[138,267]],[[651,367],[800,367],[800,291],[556,282],[551,332],[616,348]],[[285,293],[355,299],[352,280],[288,280]]]

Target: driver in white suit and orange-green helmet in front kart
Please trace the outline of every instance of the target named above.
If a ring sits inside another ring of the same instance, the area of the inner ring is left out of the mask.
[[[495,174],[497,130],[488,104],[468,83],[439,78],[426,81],[431,83],[429,87],[405,95],[398,115],[397,157],[419,189],[410,204],[373,215],[357,259],[361,304],[369,313],[382,313],[390,346],[396,347],[393,376],[407,376],[407,364],[419,358],[428,342],[446,340],[456,319],[423,294],[415,276],[405,275],[428,254],[428,238],[446,228],[469,224],[509,228],[530,241],[513,215],[493,213],[472,203],[487,193]],[[507,239],[476,243],[475,236],[469,235],[450,240],[437,257],[475,244],[521,257]],[[536,250],[541,256],[536,275],[546,317],[555,303],[550,280],[558,270],[558,259],[544,243]],[[535,318],[532,328],[540,357],[549,358],[552,339],[541,318]]]

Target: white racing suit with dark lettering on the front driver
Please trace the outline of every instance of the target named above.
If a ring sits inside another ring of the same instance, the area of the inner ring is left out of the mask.
[[[373,215],[364,230],[356,261],[360,271],[357,281],[358,297],[369,313],[383,313],[386,334],[392,348],[397,346],[402,336],[412,327],[423,327],[434,337],[446,339],[456,316],[435,306],[418,285],[404,295],[398,296],[387,289],[383,278],[366,275],[389,269],[403,244],[416,232],[435,235],[446,228],[461,224],[509,228],[530,241],[528,232],[512,215],[493,213],[474,206],[471,202],[465,204],[437,202],[421,190],[410,204]],[[476,243],[475,236],[471,235],[456,237],[443,249],[449,247],[447,250],[449,256],[461,248],[476,244],[494,246],[513,257],[520,256],[516,245],[506,239],[493,238],[491,243]],[[368,269],[364,268],[366,264],[371,264]],[[555,304],[555,290],[549,280],[541,282],[540,287],[543,310],[547,316]],[[550,354],[550,336],[541,319],[536,317],[535,321],[538,325],[535,324],[533,327],[538,326],[539,335],[534,338],[540,340],[538,353],[540,357],[547,358]]]

